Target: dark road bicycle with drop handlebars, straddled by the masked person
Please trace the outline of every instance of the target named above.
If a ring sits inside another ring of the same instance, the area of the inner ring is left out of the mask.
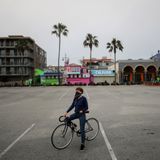
[[[65,149],[72,142],[74,133],[78,137],[81,136],[80,129],[72,121],[67,123],[64,116],[59,117],[59,124],[52,132],[51,143],[56,149]],[[97,137],[99,133],[99,122],[96,118],[88,118],[85,123],[85,139],[91,141]]]

